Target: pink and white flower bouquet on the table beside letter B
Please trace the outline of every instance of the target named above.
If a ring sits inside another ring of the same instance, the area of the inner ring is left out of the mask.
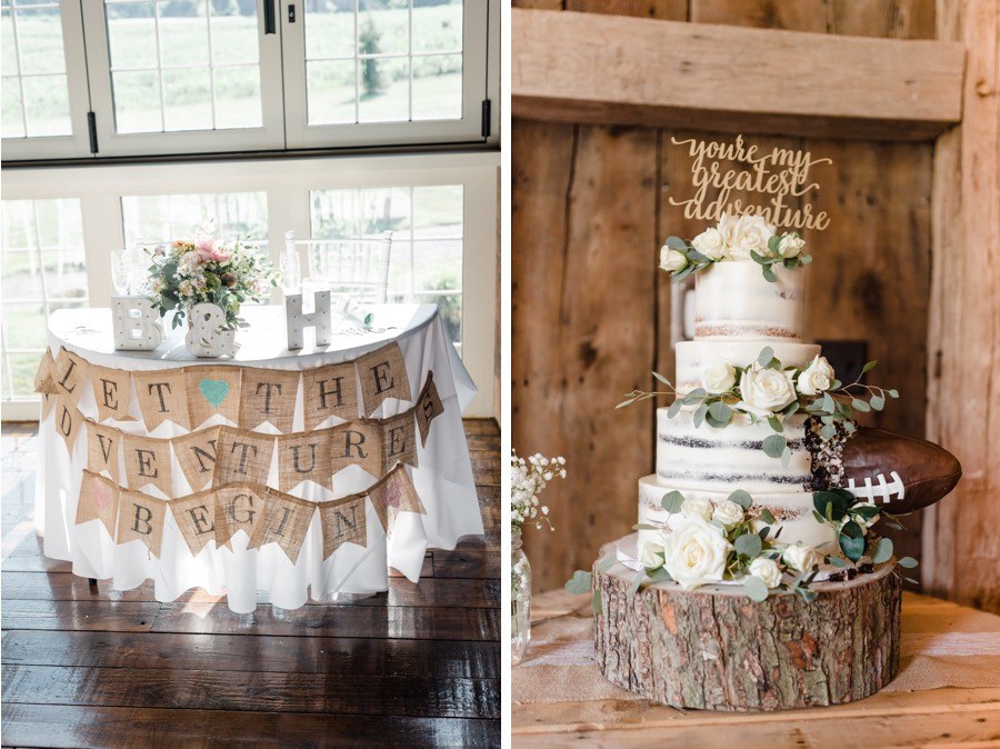
[[[179,327],[194,304],[211,302],[226,314],[224,327],[243,324],[240,306],[260,301],[279,274],[270,260],[254,253],[251,244],[217,241],[208,231],[193,239],[178,239],[148,248],[149,289],[153,306],[164,316],[173,310],[172,327]]]

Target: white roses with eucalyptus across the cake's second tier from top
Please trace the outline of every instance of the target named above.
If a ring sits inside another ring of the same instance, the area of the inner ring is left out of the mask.
[[[861,374],[877,363],[869,361]],[[707,422],[721,429],[737,413],[746,416],[750,423],[767,421],[774,433],[767,437],[761,447],[770,457],[780,458],[784,466],[791,461],[791,450],[782,432],[786,420],[792,415],[814,418],[820,425],[820,438],[830,440],[840,430],[847,435],[856,430],[854,411],[881,411],[887,398],[899,398],[899,392],[893,389],[862,385],[860,377],[843,385],[826,357],[819,354],[806,367],[784,367],[770,346],[761,349],[757,360],[747,367],[720,359],[702,372],[701,387],[687,392],[678,392],[659,372],[652,374],[667,386],[666,390],[633,390],[626,393],[626,400],[617,408],[657,396],[674,396],[667,416],[672,419],[686,406],[692,407],[696,427]]]

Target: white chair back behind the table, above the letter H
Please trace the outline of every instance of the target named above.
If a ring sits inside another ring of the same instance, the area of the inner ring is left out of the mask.
[[[384,304],[389,290],[392,232],[381,237],[296,239],[284,232],[284,249],[298,257],[306,286],[329,288],[358,301]]]

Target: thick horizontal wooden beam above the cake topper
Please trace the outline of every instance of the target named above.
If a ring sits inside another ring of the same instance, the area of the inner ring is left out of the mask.
[[[528,119],[927,140],[961,118],[963,46],[514,8]]]

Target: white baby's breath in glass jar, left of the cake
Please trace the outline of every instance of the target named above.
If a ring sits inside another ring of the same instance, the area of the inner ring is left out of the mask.
[[[554,478],[566,478],[566,458],[546,458],[536,453],[527,459],[517,452],[510,457],[510,651],[517,666],[531,642],[531,565],[521,549],[524,523],[541,530],[549,520],[549,508],[539,495]]]

